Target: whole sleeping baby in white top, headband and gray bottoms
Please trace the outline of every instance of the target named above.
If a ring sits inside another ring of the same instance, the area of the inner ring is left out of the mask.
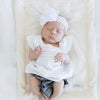
[[[27,37],[32,48],[29,53],[32,61],[25,72],[32,74],[29,86],[39,100],[44,100],[45,96],[48,100],[55,100],[63,93],[67,78],[73,73],[73,64],[68,56],[72,45],[72,37],[66,35],[68,23],[55,9],[50,13],[45,12],[41,17],[41,35]]]

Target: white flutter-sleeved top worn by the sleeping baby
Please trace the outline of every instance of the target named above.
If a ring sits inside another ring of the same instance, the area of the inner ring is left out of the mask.
[[[71,36],[65,36],[59,43],[59,47],[45,44],[42,41],[41,35],[27,36],[27,42],[33,49],[40,45],[42,52],[35,61],[27,64],[25,69],[26,73],[34,73],[52,81],[60,81],[72,77],[73,63],[71,60],[68,64],[63,65],[61,65],[61,62],[55,62],[54,60],[57,53],[68,54],[72,47]]]

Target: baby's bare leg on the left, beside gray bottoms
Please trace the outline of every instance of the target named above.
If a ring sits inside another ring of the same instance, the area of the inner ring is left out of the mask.
[[[44,100],[44,96],[41,94],[39,89],[39,81],[36,77],[32,77],[29,79],[29,86],[33,94],[39,97],[39,100]]]

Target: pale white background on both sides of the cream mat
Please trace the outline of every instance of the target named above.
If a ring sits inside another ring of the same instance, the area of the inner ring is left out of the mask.
[[[16,87],[16,38],[11,0],[0,0],[0,100],[18,100]],[[95,31],[100,73],[100,0],[95,0]],[[100,98],[98,74],[98,100]]]

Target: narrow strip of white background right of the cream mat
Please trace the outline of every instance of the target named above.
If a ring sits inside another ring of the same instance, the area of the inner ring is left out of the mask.
[[[95,32],[98,54],[98,100],[100,99],[100,0],[95,0]]]

